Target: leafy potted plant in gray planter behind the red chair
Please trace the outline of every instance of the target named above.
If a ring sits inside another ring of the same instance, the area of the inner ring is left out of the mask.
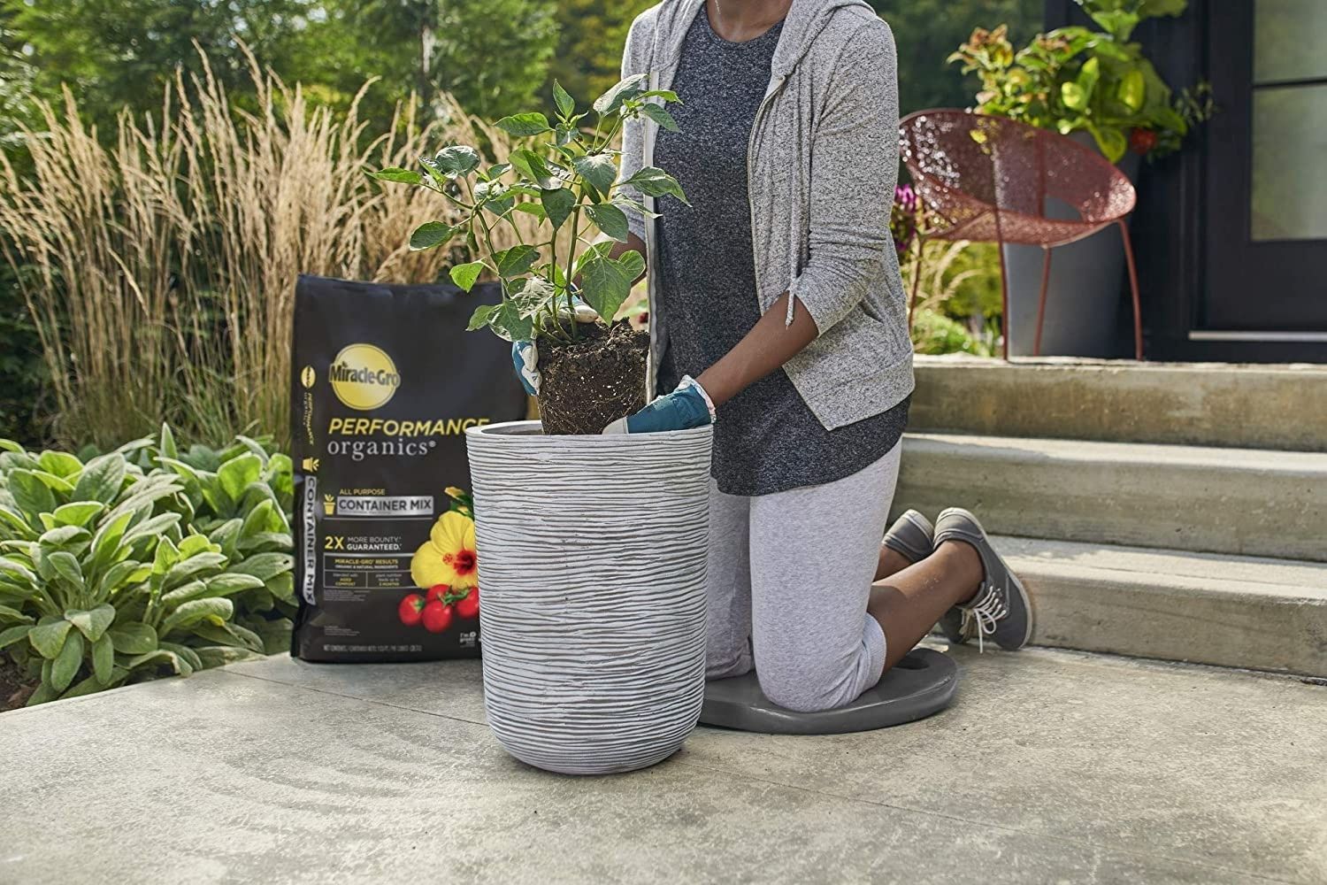
[[[1006,27],[978,28],[949,57],[963,73],[975,73],[982,89],[978,113],[1009,117],[1050,129],[1096,147],[1137,183],[1139,161],[1180,149],[1193,125],[1212,114],[1208,86],[1178,96],[1161,80],[1133,29],[1144,19],[1178,16],[1188,0],[1075,0],[1097,29],[1058,28],[1014,52]],[[1047,200],[1048,218],[1076,218]],[[1034,349],[1042,249],[1006,245],[1009,353]],[[1124,287],[1119,234],[1101,231],[1056,247],[1042,334],[1043,354],[1111,357]]]

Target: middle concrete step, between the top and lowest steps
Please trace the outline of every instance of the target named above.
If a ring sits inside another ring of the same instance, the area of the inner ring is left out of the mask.
[[[987,531],[1327,561],[1327,454],[908,434],[894,510]]]

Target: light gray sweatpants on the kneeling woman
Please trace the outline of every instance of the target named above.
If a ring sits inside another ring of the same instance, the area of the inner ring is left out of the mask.
[[[710,486],[706,678],[755,667],[770,701],[832,710],[880,681],[885,634],[867,614],[902,446],[824,486],[725,495]]]

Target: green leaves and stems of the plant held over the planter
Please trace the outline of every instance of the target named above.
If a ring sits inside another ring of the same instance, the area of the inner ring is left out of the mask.
[[[418,227],[410,247],[431,249],[463,239],[470,255],[479,257],[453,267],[451,280],[468,292],[487,271],[502,283],[502,301],[476,308],[471,330],[488,326],[508,341],[551,337],[571,342],[577,338],[571,318],[577,296],[612,322],[644,271],[636,251],[610,256],[612,240],[626,241],[626,211],[649,215],[629,194],[686,199],[677,180],[653,166],[617,180],[614,143],[622,123],[648,117],[677,130],[665,107],[675,101],[671,92],[649,89],[646,76],[640,74],[600,96],[591,110],[577,111],[576,101],[553,84],[555,119],[529,111],[496,121],[524,145],[494,158],[495,165],[486,165],[475,146],[447,145],[419,161],[422,171],[384,169],[370,175],[426,187],[460,210],[459,220]],[[492,231],[500,224],[515,230],[516,212],[535,216],[544,239],[494,248]],[[610,240],[589,244],[596,230]]]

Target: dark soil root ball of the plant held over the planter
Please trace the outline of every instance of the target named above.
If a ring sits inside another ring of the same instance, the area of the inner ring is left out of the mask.
[[[539,414],[549,435],[598,434],[645,407],[650,333],[621,320],[581,324],[579,334],[539,342]]]

